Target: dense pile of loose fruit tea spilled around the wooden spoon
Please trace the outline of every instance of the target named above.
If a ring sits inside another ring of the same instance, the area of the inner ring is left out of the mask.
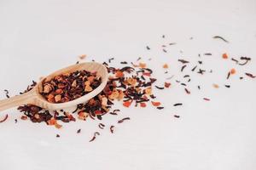
[[[86,120],[87,118],[102,120],[102,116],[109,113],[117,115],[120,110],[110,111],[113,101],[122,102],[125,107],[131,105],[145,107],[146,103],[154,99],[152,86],[156,81],[151,77],[153,71],[148,68],[125,66],[115,68],[103,63],[108,69],[108,82],[102,92],[90,99],[87,103],[79,104],[73,113],[65,111],[45,111],[35,105],[23,105],[18,110],[23,112],[26,118],[32,122],[46,122],[48,125],[60,127],[58,122],[74,122],[76,118]],[[144,66],[144,65],[143,65]],[[29,91],[36,82],[29,86]],[[52,91],[55,91],[52,90]],[[155,101],[154,101],[155,102]],[[160,102],[156,102],[160,106]],[[101,125],[103,128],[104,126]]]

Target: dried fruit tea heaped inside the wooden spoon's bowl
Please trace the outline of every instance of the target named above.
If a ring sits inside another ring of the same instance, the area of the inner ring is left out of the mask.
[[[64,103],[89,94],[101,84],[96,72],[74,71],[42,82],[40,94],[50,103]]]

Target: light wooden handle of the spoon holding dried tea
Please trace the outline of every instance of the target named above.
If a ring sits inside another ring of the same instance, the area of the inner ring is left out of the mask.
[[[0,111],[4,111],[19,105],[32,104],[34,99],[35,95],[33,92],[27,92],[25,94],[16,95],[9,99],[2,99],[0,100]]]

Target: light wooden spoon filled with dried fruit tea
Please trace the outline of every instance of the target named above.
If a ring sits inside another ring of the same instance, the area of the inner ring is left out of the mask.
[[[85,94],[84,96],[81,96],[78,99],[74,99],[72,101],[68,101],[65,103],[49,103],[44,97],[39,93],[39,89],[42,87],[42,81],[49,81],[52,78],[59,76],[61,74],[65,73],[71,73],[74,71],[90,71],[95,72],[97,77],[102,77],[102,83],[100,86],[98,86],[96,89],[91,91],[89,94]],[[55,71],[54,73],[50,74],[48,77],[45,77],[43,80],[38,82],[38,84],[32,88],[29,92],[26,92],[25,94],[16,95],[15,97],[11,97],[9,99],[3,99],[0,100],[0,111],[9,109],[11,107],[19,106],[19,105],[38,105],[39,107],[42,107],[46,110],[59,110],[67,107],[71,107],[74,105],[79,105],[81,103],[85,103],[89,99],[95,97],[97,94],[100,94],[105,88],[107,82],[108,82],[108,71],[107,68],[99,63],[96,62],[87,62],[87,63],[81,63],[77,65],[71,65],[64,69],[61,69],[59,71]]]

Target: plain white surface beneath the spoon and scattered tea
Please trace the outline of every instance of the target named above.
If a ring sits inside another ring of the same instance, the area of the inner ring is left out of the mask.
[[[216,35],[230,43],[213,40]],[[160,46],[167,42],[177,45],[168,47],[165,54]],[[64,124],[59,130],[21,121],[15,109],[3,111],[1,117],[8,113],[9,119],[0,124],[0,169],[253,170],[256,83],[255,79],[241,81],[239,77],[245,71],[256,73],[255,44],[253,0],[1,0],[1,99],[5,98],[3,89],[9,89],[10,95],[18,94],[32,80],[74,64],[79,54],[101,62],[114,57],[114,65],[142,57],[156,71],[159,85],[166,77],[175,77],[172,88],[154,92],[164,110],[149,106],[124,109],[118,104],[119,116],[104,116],[104,124],[116,126],[114,134],[108,127],[100,131],[98,121]],[[151,50],[146,50],[147,45]],[[244,67],[235,65],[221,59],[224,52],[253,61]],[[174,81],[181,78],[177,59],[195,64],[197,54],[203,53],[212,53],[201,60],[213,73],[194,74],[191,94],[185,94]],[[161,68],[164,63],[170,65],[167,75]],[[226,73],[233,67],[237,74],[226,81]],[[212,83],[220,88],[212,88]],[[224,88],[227,83],[230,89]],[[211,101],[204,101],[204,97]],[[184,105],[174,108],[177,102]],[[131,121],[116,125],[125,116]],[[77,134],[79,128],[82,132]],[[101,136],[89,143],[95,131]],[[56,133],[61,138],[55,138]]]

